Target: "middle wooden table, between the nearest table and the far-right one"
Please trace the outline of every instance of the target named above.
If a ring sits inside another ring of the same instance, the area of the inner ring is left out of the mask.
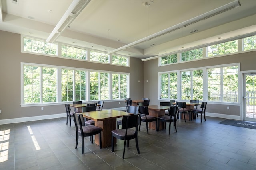
[[[149,105],[148,113],[150,116],[159,117],[165,115],[165,110],[168,110],[170,106],[160,106],[160,105]],[[149,128],[156,130],[156,122],[150,122]],[[164,122],[160,122],[159,130],[164,129]]]

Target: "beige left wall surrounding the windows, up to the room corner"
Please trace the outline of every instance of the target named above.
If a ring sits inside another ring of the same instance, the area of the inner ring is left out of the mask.
[[[143,97],[143,62],[140,59],[130,57],[130,67],[124,67],[21,53],[20,35],[6,31],[0,32],[0,43],[1,120],[52,115],[66,112],[64,104],[33,107],[20,106],[20,66],[22,62],[130,73],[130,96],[136,99]],[[138,83],[138,80],[140,80],[140,83]],[[44,107],[43,111],[41,110],[41,107]],[[125,107],[123,100],[116,102],[104,102],[104,109],[119,107]]]

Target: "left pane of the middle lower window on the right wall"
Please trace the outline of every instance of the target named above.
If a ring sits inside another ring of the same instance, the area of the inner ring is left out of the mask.
[[[191,72],[183,71],[181,72],[181,99],[190,100],[191,99]]]

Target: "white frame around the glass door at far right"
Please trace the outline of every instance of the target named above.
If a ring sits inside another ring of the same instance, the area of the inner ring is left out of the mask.
[[[248,71],[241,71],[240,72],[240,77],[241,77],[241,89],[240,89],[240,92],[242,93],[241,94],[241,105],[240,105],[240,120],[244,120],[245,118],[245,112],[246,112],[246,109],[245,109],[245,100],[244,100],[244,94],[245,94],[245,81],[244,81],[244,78],[245,78],[245,74],[256,74],[256,70],[248,70]]]

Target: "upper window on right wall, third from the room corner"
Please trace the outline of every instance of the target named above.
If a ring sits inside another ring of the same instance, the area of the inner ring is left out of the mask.
[[[216,56],[229,53],[235,53],[238,51],[238,41],[229,41],[207,47],[207,56]]]

